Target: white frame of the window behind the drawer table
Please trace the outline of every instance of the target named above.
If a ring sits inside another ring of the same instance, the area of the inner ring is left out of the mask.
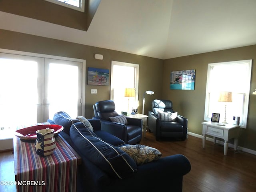
[[[246,92],[243,93],[237,93],[237,94],[243,94],[244,95],[244,103],[243,103],[243,116],[240,117],[240,122],[242,118],[242,128],[246,128],[247,126],[247,118],[248,118],[248,108],[249,108],[249,96],[250,96],[250,80],[251,80],[251,70],[252,70],[252,60],[240,60],[240,61],[232,61],[232,62],[220,62],[220,63],[210,63],[208,64],[208,71],[207,71],[207,82],[206,82],[206,99],[205,99],[205,110],[204,110],[204,120],[210,121],[212,117],[212,113],[210,113],[210,75],[211,70],[214,68],[214,66],[220,66],[220,65],[234,65],[234,64],[246,64],[248,66],[248,74],[243,74],[243,76],[247,76],[246,82],[244,82],[244,86],[246,88]],[[218,85],[217,85],[218,86]]]

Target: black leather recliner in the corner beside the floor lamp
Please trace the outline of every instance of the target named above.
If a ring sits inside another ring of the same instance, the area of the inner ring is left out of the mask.
[[[176,121],[161,121],[158,118],[158,111],[174,113],[172,101],[158,99],[152,101],[152,111],[148,111],[148,128],[156,136],[156,140],[162,137],[185,140],[188,133],[188,119],[178,114]]]

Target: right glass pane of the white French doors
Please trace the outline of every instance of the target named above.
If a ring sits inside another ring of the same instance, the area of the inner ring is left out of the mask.
[[[81,114],[82,63],[45,59],[45,110],[46,120],[59,111],[72,118]]]

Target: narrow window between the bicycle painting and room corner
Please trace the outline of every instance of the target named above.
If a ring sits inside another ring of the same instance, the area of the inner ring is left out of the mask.
[[[138,108],[138,74],[138,64],[112,61],[110,99],[114,100],[118,114]],[[125,97],[125,88],[135,88],[135,96]]]

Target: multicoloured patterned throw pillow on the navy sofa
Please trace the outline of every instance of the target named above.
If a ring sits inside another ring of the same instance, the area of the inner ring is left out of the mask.
[[[156,148],[145,145],[127,145],[119,148],[124,150],[137,165],[156,161],[162,156],[162,153]]]

